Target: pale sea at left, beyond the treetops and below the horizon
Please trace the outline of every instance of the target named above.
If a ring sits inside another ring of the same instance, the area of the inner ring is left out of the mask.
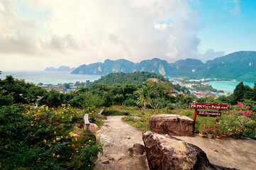
[[[100,79],[100,75],[91,74],[70,74],[70,72],[2,72],[0,79],[6,79],[7,75],[12,75],[16,79],[24,79],[33,84],[64,84],[75,83],[77,81],[85,82]]]

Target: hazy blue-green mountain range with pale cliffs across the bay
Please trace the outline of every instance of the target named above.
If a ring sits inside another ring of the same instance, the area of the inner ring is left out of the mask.
[[[169,77],[189,77],[194,79],[218,78],[237,79],[254,82],[256,79],[256,52],[234,52],[206,63],[195,59],[179,60],[168,63],[165,60],[143,60],[139,63],[128,60],[106,60],[89,65],[81,65],[72,74],[106,75],[114,72],[152,72]]]

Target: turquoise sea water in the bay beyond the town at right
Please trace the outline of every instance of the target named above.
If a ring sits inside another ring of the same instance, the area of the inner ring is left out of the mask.
[[[207,82],[206,84],[211,85],[214,89],[223,90],[226,93],[233,94],[235,86],[239,84],[238,81],[211,81]],[[243,85],[248,85],[253,88],[253,83],[243,82]]]

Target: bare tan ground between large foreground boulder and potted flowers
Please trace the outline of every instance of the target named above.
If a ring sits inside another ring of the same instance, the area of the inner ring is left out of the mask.
[[[220,140],[199,137],[177,137],[200,147],[211,162],[219,166],[235,169],[256,169],[256,141],[250,138],[233,140],[224,137]]]

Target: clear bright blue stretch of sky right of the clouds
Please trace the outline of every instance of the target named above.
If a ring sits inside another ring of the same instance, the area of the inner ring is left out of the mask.
[[[214,48],[226,54],[255,50],[256,1],[201,1],[193,8],[200,11],[200,49]],[[237,7],[236,7],[237,6]]]

